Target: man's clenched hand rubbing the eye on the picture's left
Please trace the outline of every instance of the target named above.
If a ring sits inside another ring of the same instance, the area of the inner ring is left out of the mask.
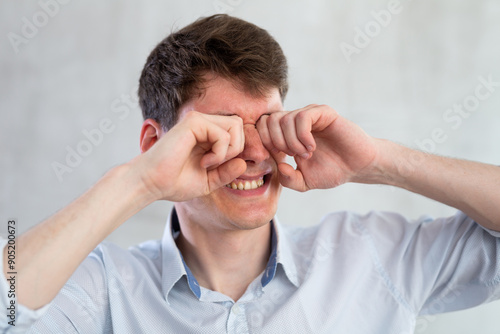
[[[136,159],[155,198],[179,202],[207,195],[243,174],[246,163],[235,157],[244,144],[241,118],[191,111]]]

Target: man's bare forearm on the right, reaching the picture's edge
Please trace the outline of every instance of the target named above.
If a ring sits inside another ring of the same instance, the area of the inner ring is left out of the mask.
[[[455,207],[484,227],[500,230],[500,168],[440,157],[380,140],[368,183],[407,189]]]

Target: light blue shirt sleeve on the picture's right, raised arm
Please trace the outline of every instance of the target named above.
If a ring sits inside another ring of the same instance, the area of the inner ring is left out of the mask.
[[[500,298],[500,232],[462,212],[448,218],[374,213],[365,231],[377,261],[418,315],[471,308]]]

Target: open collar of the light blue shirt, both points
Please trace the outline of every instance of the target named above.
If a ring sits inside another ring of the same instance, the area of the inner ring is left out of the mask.
[[[271,256],[262,275],[261,284],[265,287],[276,275],[278,264],[281,264],[286,277],[296,287],[299,286],[297,269],[286,235],[276,217],[271,221]],[[162,238],[162,291],[168,303],[168,295],[174,285],[183,277],[187,278],[189,288],[199,299],[201,289],[198,281],[191,273],[182,254],[177,248],[175,238],[180,231],[179,219],[175,208],[172,210]]]

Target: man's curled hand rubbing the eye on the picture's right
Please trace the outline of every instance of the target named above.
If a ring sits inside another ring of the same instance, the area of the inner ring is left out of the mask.
[[[375,139],[325,105],[264,115],[257,129],[272,154],[294,157],[296,170],[283,162],[278,169],[281,184],[298,191],[357,182],[377,157]]]

